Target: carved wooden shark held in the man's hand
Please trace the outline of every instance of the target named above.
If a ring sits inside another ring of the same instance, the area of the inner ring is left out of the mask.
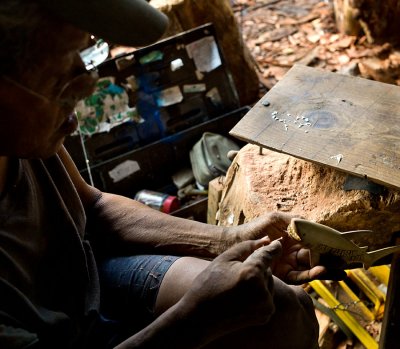
[[[368,246],[358,246],[350,239],[365,234],[373,234],[371,230],[355,230],[339,232],[326,225],[311,222],[305,219],[293,218],[287,232],[290,237],[310,249],[311,265],[320,262],[321,255],[336,256],[346,264],[362,263],[368,269],[377,260],[400,252],[400,245],[382,248],[368,252]]]

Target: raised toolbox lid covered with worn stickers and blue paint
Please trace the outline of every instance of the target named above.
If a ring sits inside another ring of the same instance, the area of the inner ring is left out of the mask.
[[[89,165],[172,135],[239,107],[212,24],[98,66],[95,93],[77,107]],[[86,168],[80,136],[65,142]]]

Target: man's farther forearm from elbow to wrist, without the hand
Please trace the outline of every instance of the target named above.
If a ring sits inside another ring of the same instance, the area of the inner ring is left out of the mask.
[[[88,211],[92,235],[141,252],[215,257],[237,242],[226,228],[169,216],[135,200],[103,193]]]

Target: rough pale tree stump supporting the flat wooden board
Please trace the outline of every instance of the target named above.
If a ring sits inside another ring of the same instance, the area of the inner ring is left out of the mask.
[[[400,191],[380,194],[343,189],[347,174],[289,155],[246,145],[235,157],[223,185],[219,224],[232,226],[271,211],[288,212],[339,231],[368,229],[370,248],[390,242],[400,230]]]

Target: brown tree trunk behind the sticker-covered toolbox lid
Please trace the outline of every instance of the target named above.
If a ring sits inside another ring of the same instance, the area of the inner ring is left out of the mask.
[[[151,5],[170,19],[166,36],[213,23],[241,105],[258,99],[259,80],[255,63],[244,44],[229,0],[152,0]]]

